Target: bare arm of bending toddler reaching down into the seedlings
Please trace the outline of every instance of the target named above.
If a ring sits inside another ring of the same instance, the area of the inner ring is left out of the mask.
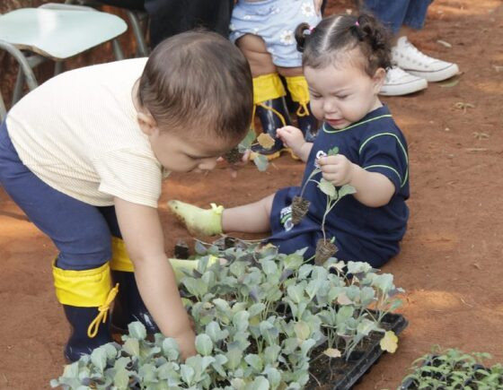
[[[176,339],[182,357],[188,358],[196,353],[195,334],[181,303],[172,266],[164,253],[159,214],[152,207],[119,198],[115,198],[115,209],[146,308],[161,332]]]

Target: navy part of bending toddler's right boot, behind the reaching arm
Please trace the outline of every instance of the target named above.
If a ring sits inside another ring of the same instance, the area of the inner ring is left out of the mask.
[[[146,327],[147,334],[156,334],[160,330],[154,318],[148,312],[138,291],[135,273],[124,271],[111,272],[113,284],[119,283],[119,293],[115,298],[111,312],[111,330],[113,333],[127,334],[128,325],[139,321]]]

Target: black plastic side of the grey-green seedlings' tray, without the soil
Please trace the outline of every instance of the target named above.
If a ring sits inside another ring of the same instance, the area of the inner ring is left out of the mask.
[[[389,313],[384,316],[382,325],[386,330],[392,330],[394,334],[401,334],[409,323],[404,316]],[[354,386],[384,353],[379,345],[383,336],[384,334],[380,334],[380,337],[371,337],[371,341],[366,345],[365,350],[358,354],[357,359],[350,358],[344,364],[342,367],[344,372],[337,375],[338,378],[335,381],[320,377],[322,385],[324,385],[323,388],[326,386],[332,390],[349,390]],[[327,371],[329,371],[329,368],[327,368]],[[315,389],[317,387],[317,384],[313,384],[312,381],[306,386],[307,389]]]

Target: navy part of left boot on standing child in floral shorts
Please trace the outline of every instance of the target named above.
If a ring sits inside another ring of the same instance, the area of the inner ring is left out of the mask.
[[[252,152],[263,154],[269,160],[272,160],[279,157],[281,151],[284,149],[283,142],[276,136],[276,130],[279,127],[291,125],[290,116],[288,115],[287,105],[283,97],[261,101],[260,103],[268,108],[273,108],[275,111],[278,111],[285,120],[284,124],[281,118],[278,117],[278,115],[271,109],[267,109],[259,105],[255,108],[255,114],[260,118],[263,133],[269,134],[270,137],[275,140],[275,143],[270,149],[265,149],[259,144],[253,145]]]

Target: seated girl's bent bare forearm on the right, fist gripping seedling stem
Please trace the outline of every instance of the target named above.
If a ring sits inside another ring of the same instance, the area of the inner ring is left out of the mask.
[[[349,161],[344,155],[322,157],[318,160],[325,180],[334,186],[350,184],[357,193],[358,202],[369,207],[388,204],[394,193],[394,186],[389,178],[378,172],[369,172]]]

